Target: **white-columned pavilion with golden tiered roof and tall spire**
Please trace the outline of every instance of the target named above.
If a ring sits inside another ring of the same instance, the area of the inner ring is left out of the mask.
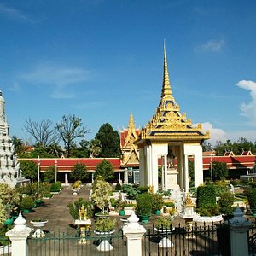
[[[195,165],[195,187],[203,183],[202,143],[209,139],[201,124],[194,127],[172,96],[169,81],[166,46],[160,103],[153,118],[135,142],[140,152],[140,185],[158,189],[189,190],[189,158]],[[159,159],[161,159],[159,168]],[[159,184],[159,172],[161,183]]]

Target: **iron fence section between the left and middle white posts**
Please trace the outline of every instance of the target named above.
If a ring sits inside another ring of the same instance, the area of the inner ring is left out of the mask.
[[[49,231],[42,238],[29,236],[27,243],[31,256],[127,255],[119,230],[105,234],[87,231],[84,237],[80,236],[79,231]]]

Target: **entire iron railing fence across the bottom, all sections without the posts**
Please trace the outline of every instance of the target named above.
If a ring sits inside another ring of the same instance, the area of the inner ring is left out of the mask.
[[[248,230],[249,255],[256,256],[256,222]],[[0,244],[9,243],[0,236]],[[79,256],[116,255],[127,256],[126,238],[122,230],[113,233],[86,231],[81,236],[78,230],[67,232],[46,231],[44,237],[27,240],[31,256]],[[10,247],[0,247],[0,255],[11,255]],[[222,255],[230,256],[230,228],[228,224],[202,224],[183,227],[181,224],[169,229],[149,228],[143,236],[143,256],[165,255]],[[134,255],[137,256],[137,255]]]

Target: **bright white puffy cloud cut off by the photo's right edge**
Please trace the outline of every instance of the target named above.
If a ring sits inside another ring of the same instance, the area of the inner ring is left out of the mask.
[[[247,117],[251,125],[256,126],[256,82],[241,80],[236,85],[250,91],[251,102],[241,103],[241,115]]]

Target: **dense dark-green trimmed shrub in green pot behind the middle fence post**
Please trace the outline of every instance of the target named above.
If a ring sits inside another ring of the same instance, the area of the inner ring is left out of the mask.
[[[137,215],[143,223],[148,223],[152,212],[153,197],[152,194],[142,193],[137,195]]]

